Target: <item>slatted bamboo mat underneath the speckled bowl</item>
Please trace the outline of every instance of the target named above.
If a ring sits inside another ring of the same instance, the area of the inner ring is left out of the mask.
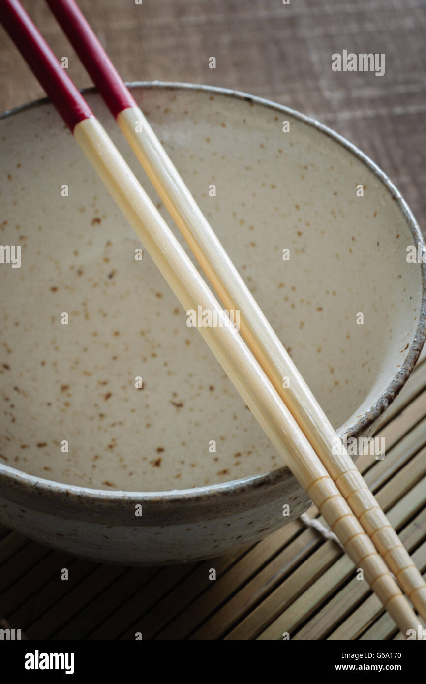
[[[426,354],[386,413],[386,456],[358,467],[426,571]],[[310,518],[317,518],[312,508]],[[62,568],[70,579],[60,579]],[[209,569],[215,568],[215,581]],[[300,521],[244,552],[163,568],[73,558],[0,527],[0,617],[28,639],[400,638],[338,545]]]

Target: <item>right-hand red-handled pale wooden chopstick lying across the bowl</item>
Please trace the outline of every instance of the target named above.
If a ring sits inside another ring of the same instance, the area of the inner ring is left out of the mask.
[[[343,444],[339,444],[336,450],[336,432],[330,421],[256,304],[77,3],[75,0],[46,2],[225,308],[229,311],[239,309],[240,333],[245,343],[373,540],[377,551],[426,620],[426,583],[421,573]],[[289,386],[285,389],[283,378],[289,379]],[[320,512],[323,513],[321,509]]]

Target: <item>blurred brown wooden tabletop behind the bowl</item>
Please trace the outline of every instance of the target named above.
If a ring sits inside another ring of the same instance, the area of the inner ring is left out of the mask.
[[[426,0],[79,0],[127,81],[244,90],[315,116],[381,166],[423,227]],[[23,0],[79,88],[91,85],[44,0]],[[42,90],[0,29],[0,111]],[[385,53],[383,77],[331,55]],[[209,57],[216,68],[209,69]]]

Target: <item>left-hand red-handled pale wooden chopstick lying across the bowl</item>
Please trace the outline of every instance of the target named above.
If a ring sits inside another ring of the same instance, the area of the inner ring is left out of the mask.
[[[0,0],[0,19],[183,308],[201,305],[217,316],[217,327],[198,330],[284,462],[399,629],[417,629],[416,614],[295,419],[18,0]]]

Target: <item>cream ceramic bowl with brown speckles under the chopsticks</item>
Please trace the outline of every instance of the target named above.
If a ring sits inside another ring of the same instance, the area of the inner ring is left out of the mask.
[[[179,84],[133,95],[338,434],[371,435],[424,340],[424,267],[406,259],[421,236],[395,187],[280,105]],[[244,547],[304,512],[53,107],[5,114],[0,138],[1,242],[21,246],[20,267],[0,264],[3,523],[95,560],[160,564]]]

